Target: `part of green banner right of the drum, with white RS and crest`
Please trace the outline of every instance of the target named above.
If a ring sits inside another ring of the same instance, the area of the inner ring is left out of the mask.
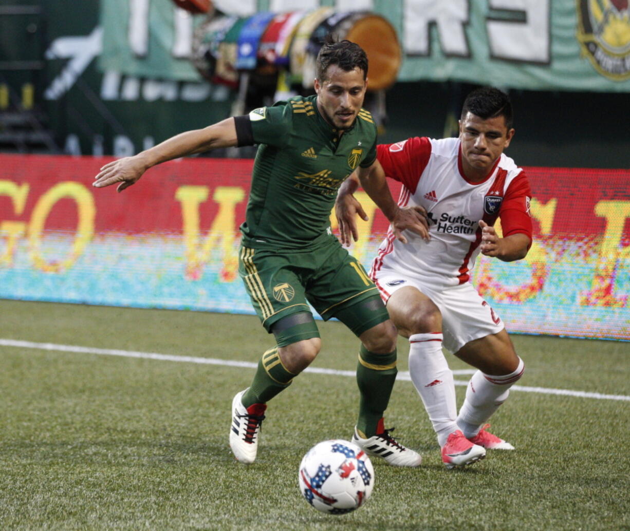
[[[399,73],[401,81],[452,80],[529,90],[630,91],[627,0],[377,4],[383,9],[389,6],[383,13],[393,16],[403,39],[406,55]],[[457,11],[454,4],[462,9]],[[508,9],[510,5],[514,7]]]

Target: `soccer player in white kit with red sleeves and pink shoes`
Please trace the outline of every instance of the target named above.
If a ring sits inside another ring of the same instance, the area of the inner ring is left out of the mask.
[[[427,409],[447,468],[483,459],[486,448],[513,450],[486,430],[486,421],[522,376],[503,322],[470,282],[479,253],[503,261],[524,258],[532,243],[530,187],[503,154],[513,138],[512,104],[481,88],[464,101],[459,137],[411,138],[378,147],[384,173],[403,184],[399,207],[426,215],[428,237],[389,228],[370,276],[399,334],[410,341],[411,380]],[[352,176],[336,203],[341,241],[357,239]],[[493,225],[501,219],[503,237]],[[453,375],[442,345],[478,370],[457,414]]]

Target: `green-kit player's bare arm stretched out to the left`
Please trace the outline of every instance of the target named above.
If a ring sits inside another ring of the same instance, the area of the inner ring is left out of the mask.
[[[136,183],[147,169],[156,164],[164,163],[178,157],[203,153],[218,147],[232,147],[237,145],[236,126],[234,118],[227,118],[222,122],[209,125],[203,129],[196,129],[180,133],[164,140],[161,144],[142,151],[132,157],[123,157],[117,161],[105,164],[96,176],[93,186],[103,188],[118,184],[118,191]]]

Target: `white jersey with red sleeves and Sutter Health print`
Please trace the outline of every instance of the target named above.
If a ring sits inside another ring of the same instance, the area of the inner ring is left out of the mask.
[[[522,232],[532,237],[531,197],[524,171],[501,154],[488,178],[466,179],[461,142],[415,137],[378,146],[377,157],[385,174],[403,184],[398,204],[427,210],[431,239],[405,231],[408,243],[398,241],[391,227],[372,263],[370,275],[396,270],[420,275],[442,286],[468,282],[481,243],[483,219],[492,226],[501,218],[503,236]]]

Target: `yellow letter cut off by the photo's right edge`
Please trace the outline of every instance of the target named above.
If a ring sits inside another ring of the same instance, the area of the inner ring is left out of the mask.
[[[595,214],[606,219],[606,229],[597,256],[591,290],[580,297],[580,305],[622,308],[627,295],[614,294],[615,277],[619,269],[628,266],[630,246],[621,247],[626,219],[630,217],[630,201],[600,201]]]

